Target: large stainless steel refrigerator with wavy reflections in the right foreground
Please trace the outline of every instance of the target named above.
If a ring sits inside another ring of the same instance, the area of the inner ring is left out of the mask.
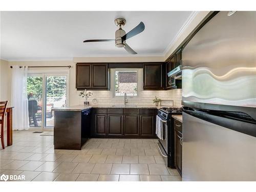
[[[217,13],[182,61],[182,180],[256,181],[256,12]]]

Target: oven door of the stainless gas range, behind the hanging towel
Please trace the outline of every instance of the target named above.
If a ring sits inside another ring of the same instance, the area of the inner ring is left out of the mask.
[[[163,157],[167,157],[167,154],[168,154],[168,142],[167,142],[167,139],[168,139],[168,132],[167,132],[167,129],[168,129],[168,126],[167,126],[167,121],[162,119],[160,117],[160,121],[162,123],[162,128],[163,128],[163,139],[159,139],[159,142],[158,143],[158,148],[159,148],[159,151],[161,153],[161,155]]]

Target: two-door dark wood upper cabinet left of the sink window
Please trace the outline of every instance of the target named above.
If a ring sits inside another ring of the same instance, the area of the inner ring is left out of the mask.
[[[108,90],[108,63],[77,63],[76,89]]]

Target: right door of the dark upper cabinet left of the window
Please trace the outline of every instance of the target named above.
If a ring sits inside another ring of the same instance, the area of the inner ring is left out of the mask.
[[[92,65],[92,88],[108,89],[108,64],[93,63],[93,65]]]

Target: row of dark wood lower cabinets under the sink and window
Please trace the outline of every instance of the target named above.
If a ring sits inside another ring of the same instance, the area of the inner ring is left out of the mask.
[[[91,136],[156,138],[156,109],[93,109]]]

